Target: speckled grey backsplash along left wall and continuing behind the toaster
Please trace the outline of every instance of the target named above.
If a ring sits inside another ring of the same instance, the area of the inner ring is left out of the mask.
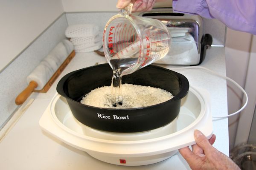
[[[26,77],[47,56],[49,51],[65,38],[67,26],[94,23],[103,32],[105,24],[116,12],[64,13],[38,36],[10,65],[1,73],[0,79],[0,129],[18,108],[16,96],[27,86]],[[225,26],[218,20],[206,20],[205,33],[213,37],[213,45],[224,45]]]

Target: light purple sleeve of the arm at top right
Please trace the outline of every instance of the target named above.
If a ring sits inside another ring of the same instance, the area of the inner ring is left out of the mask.
[[[256,35],[256,0],[173,0],[172,8],[216,18],[231,29]]]

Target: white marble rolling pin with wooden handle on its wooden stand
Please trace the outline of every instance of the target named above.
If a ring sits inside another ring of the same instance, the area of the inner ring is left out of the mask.
[[[16,97],[16,105],[23,104],[33,91],[46,93],[75,56],[73,49],[74,46],[70,41],[62,40],[59,42],[29,74],[27,77],[28,86]]]

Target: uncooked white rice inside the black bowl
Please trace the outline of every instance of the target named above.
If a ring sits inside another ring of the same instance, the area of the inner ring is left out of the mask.
[[[142,85],[122,85],[122,105],[113,107],[111,102],[111,87],[96,88],[86,94],[81,103],[99,108],[140,108],[156,105],[172,99],[174,96],[163,89]]]

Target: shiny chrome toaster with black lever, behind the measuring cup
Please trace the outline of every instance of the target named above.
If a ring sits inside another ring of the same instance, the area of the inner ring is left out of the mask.
[[[212,44],[212,36],[204,34],[202,17],[191,14],[173,13],[172,8],[154,8],[138,13],[143,17],[161,20],[172,37],[169,53],[157,64],[199,65],[203,62],[206,49]]]

